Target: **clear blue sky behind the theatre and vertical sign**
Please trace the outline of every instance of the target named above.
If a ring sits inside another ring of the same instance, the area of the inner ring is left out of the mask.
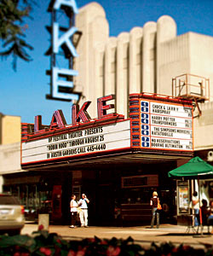
[[[0,59],[0,113],[20,116],[21,122],[33,123],[36,115],[42,115],[43,125],[49,125],[55,110],[61,109],[66,123],[71,124],[71,102],[47,100],[49,94],[50,25],[47,12],[49,0],[37,0],[32,20],[27,19],[26,41],[34,48],[28,51],[32,61],[18,60],[17,70],[12,68],[12,58]],[[76,0],[78,9],[92,1]],[[110,36],[130,32],[147,21],[157,21],[162,15],[170,15],[177,25],[177,34],[198,32],[213,37],[213,0],[97,0],[105,9]],[[96,118],[96,117],[92,117]]]

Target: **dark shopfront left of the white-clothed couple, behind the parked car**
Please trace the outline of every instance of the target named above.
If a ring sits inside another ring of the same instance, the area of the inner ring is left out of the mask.
[[[71,188],[71,175],[70,172],[63,175],[53,172],[8,174],[4,175],[3,191],[20,199],[26,220],[37,220],[38,213],[48,212],[51,220],[61,222],[69,214],[66,207],[69,199],[62,197],[62,190],[66,194],[66,188]]]

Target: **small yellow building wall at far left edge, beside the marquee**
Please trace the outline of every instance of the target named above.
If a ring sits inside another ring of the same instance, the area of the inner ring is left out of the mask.
[[[2,144],[20,142],[20,117],[3,115],[2,117]]]

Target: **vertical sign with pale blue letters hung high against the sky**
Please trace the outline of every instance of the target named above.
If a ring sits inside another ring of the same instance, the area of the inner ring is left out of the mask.
[[[49,3],[49,12],[52,17],[52,27],[48,28],[52,37],[52,45],[46,55],[51,55],[50,64],[50,95],[48,99],[61,101],[78,102],[80,93],[74,92],[73,77],[78,76],[78,71],[73,70],[73,58],[78,57],[77,50],[73,44],[73,36],[78,33],[78,29],[72,26],[72,17],[78,14],[78,7],[74,0],[52,0]],[[60,15],[57,15],[60,12]],[[61,12],[66,15],[69,20],[69,27],[60,26],[57,17],[61,16]],[[61,61],[61,55],[64,59]],[[58,57],[58,58],[57,58]],[[60,63],[59,63],[60,57]],[[56,67],[59,65],[60,67]],[[65,67],[66,66],[66,67]]]

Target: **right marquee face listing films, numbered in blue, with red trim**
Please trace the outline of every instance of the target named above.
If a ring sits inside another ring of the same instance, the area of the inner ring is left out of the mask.
[[[193,151],[193,106],[182,99],[134,95],[130,99],[134,148]]]

